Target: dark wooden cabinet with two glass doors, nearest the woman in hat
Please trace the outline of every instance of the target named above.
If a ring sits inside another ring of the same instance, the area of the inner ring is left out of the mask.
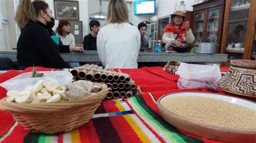
[[[214,42],[220,52],[224,18],[224,0],[212,0],[193,5],[193,33],[195,42]]]

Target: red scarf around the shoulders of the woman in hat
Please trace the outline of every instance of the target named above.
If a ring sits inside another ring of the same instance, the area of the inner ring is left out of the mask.
[[[168,24],[165,26],[163,34],[167,33],[167,32],[172,32],[173,34],[178,34],[179,35],[179,41],[183,42],[185,41],[185,38],[183,36],[183,34],[186,34],[186,28],[185,28],[185,23],[181,23],[181,26],[179,28],[177,28],[174,25],[174,22]]]

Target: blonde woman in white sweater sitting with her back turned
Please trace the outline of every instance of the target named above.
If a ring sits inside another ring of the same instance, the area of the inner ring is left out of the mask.
[[[138,68],[139,30],[129,24],[124,0],[111,0],[105,26],[97,35],[97,51],[105,68]]]

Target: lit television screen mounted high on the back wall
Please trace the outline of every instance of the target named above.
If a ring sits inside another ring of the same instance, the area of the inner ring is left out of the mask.
[[[155,0],[140,0],[134,1],[135,15],[153,15],[156,14]]]

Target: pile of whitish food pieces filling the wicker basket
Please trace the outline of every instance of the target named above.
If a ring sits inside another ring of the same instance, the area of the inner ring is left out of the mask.
[[[35,84],[29,85],[23,91],[9,90],[6,101],[17,103],[51,103],[95,95],[100,89],[100,85],[90,81],[76,81],[70,85],[63,86],[53,78],[46,78],[46,80],[39,80]]]

